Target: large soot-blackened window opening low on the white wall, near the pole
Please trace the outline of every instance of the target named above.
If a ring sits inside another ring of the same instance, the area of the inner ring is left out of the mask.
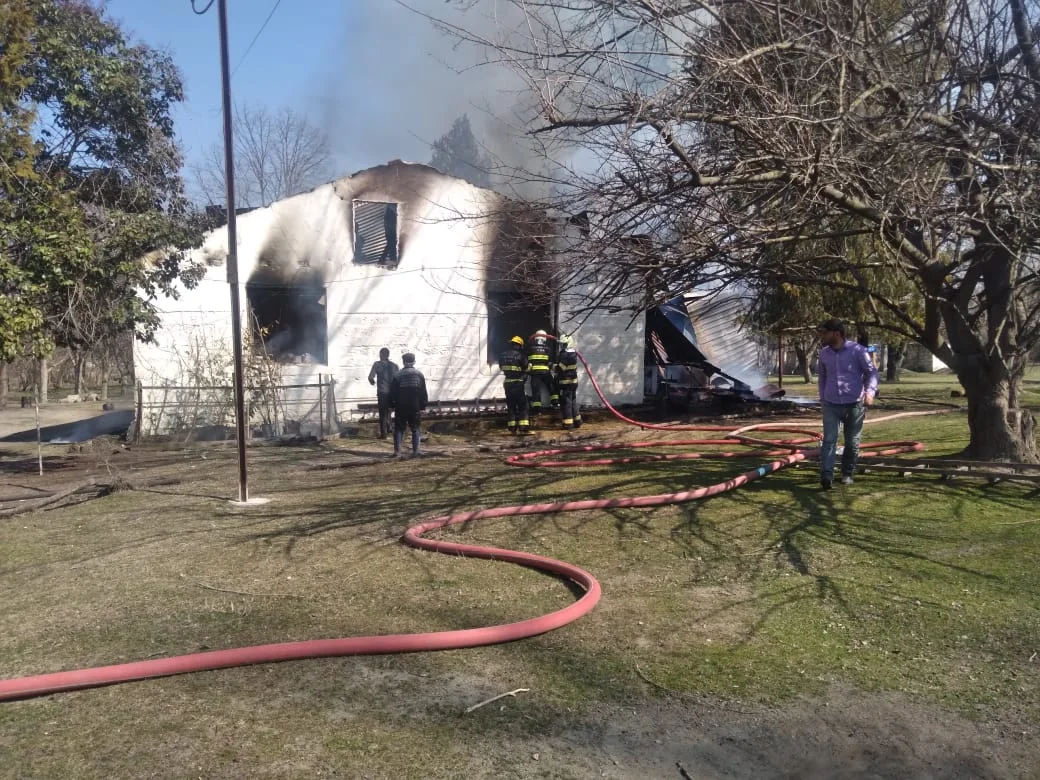
[[[317,276],[284,280],[255,276],[245,285],[254,342],[279,363],[329,361],[326,288]]]

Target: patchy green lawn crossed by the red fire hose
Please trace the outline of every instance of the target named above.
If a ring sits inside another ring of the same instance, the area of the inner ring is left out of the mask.
[[[900,394],[939,398],[944,389],[948,398],[950,387],[914,378]],[[913,408],[888,395],[872,415]],[[965,415],[902,418],[864,435],[891,439],[956,452]],[[430,449],[454,454],[342,470],[314,467],[378,445],[251,449],[253,493],[272,500],[248,510],[224,500],[235,492],[233,447],[144,447],[133,462],[92,462],[99,474],[182,482],[0,523],[0,674],[531,617],[573,595],[525,569],[407,549],[400,532],[477,506],[686,490],[758,462],[517,469],[464,445],[435,437]],[[508,773],[518,750],[601,707],[676,695],[783,705],[835,685],[1035,729],[1036,487],[874,472],[823,493],[804,464],[706,501],[472,523],[444,536],[578,564],[602,583],[601,603],[506,646],[227,670],[0,705],[0,752],[12,777],[134,777],[142,765],[158,777],[480,776],[485,766]],[[530,693],[460,718],[517,687]]]

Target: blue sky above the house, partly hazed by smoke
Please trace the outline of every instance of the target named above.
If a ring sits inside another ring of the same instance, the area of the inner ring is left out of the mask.
[[[207,2],[196,0],[200,8]],[[453,12],[444,0],[409,2]],[[190,0],[108,0],[105,7],[132,41],[168,51],[180,68],[186,100],[174,112],[177,134],[186,163],[199,161],[223,138],[216,3],[203,16]],[[479,10],[467,23],[490,24]],[[508,74],[459,73],[476,54],[461,54],[396,0],[228,0],[228,30],[233,100],[306,113],[329,133],[338,175],[397,158],[426,162],[430,145],[464,112],[489,147],[505,142],[493,116],[515,100]]]

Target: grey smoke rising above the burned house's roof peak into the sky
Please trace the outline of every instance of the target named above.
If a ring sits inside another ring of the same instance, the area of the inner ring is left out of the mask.
[[[521,22],[515,6],[355,0],[344,7],[342,46],[324,75],[320,118],[342,173],[398,158],[426,162],[433,142],[466,113],[494,160],[496,188],[528,198],[548,193],[545,150],[524,136],[536,100],[508,67],[487,64],[493,51],[462,44],[433,21],[497,41]]]

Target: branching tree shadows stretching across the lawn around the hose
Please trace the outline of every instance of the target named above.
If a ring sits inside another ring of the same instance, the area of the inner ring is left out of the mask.
[[[287,556],[295,553],[303,540],[322,536],[347,540],[357,544],[357,548],[352,548],[350,561],[356,566],[378,550],[396,545],[408,526],[434,516],[576,498],[671,493],[731,478],[761,463],[761,459],[750,458],[659,461],[631,464],[621,469],[550,470],[516,468],[497,459],[473,456],[418,462],[387,461],[349,471],[315,471],[313,464],[306,462],[306,457],[338,460],[344,458],[344,453],[315,448],[304,452],[302,459],[298,452],[278,448],[257,454],[253,485],[263,495],[276,497],[271,503],[240,509],[230,505],[227,496],[215,494],[212,490],[215,480],[229,480],[230,477],[228,485],[234,484],[234,457],[225,452],[222,458],[197,464],[203,472],[202,478],[184,493],[149,491],[162,497],[181,495],[194,499],[181,508],[165,506],[163,511],[176,514],[190,510],[199,515],[196,525],[179,527],[167,522],[133,540],[106,544],[103,549],[85,554],[82,550],[74,551],[68,561],[101,558],[164,538],[202,537],[216,531],[220,535],[219,544],[274,543],[280,545]],[[349,452],[345,457],[361,454],[360,451]],[[368,457],[370,453],[366,450],[363,454]],[[920,524],[896,525],[896,519],[881,517],[872,505],[858,503],[863,496],[853,491],[861,491],[864,487],[883,490],[886,494],[905,495],[908,500],[922,505],[929,503],[929,496],[934,493],[936,497],[941,495],[942,505],[953,508],[954,519],[961,520],[969,515],[972,502],[981,497],[1018,509],[1022,504],[1016,502],[1014,496],[994,494],[991,488],[978,485],[921,485],[915,482],[908,486],[900,479],[881,477],[857,482],[852,490],[822,493],[815,478],[814,469],[790,469],[723,497],[693,501],[668,511],[608,508],[570,513],[566,520],[561,514],[545,514],[518,516],[505,522],[511,526],[508,528],[510,537],[518,539],[521,547],[539,545],[541,538],[546,536],[569,536],[572,544],[579,545],[587,531],[602,537],[606,518],[619,542],[632,537],[654,538],[668,545],[670,557],[700,555],[706,558],[704,568],[735,567],[743,580],[773,579],[783,570],[797,574],[800,579],[797,583],[766,588],[760,595],[731,602],[709,614],[711,617],[752,607],[755,617],[744,642],[751,641],[785,606],[801,601],[833,603],[842,613],[856,617],[860,599],[850,593],[856,582],[842,578],[833,566],[820,567],[814,563],[814,555],[825,547],[855,550],[876,565],[890,571],[902,570],[907,576],[928,570],[946,570],[979,580],[999,579],[994,574],[942,561],[922,551],[921,548],[950,541],[950,535],[941,531],[941,525],[935,531]],[[213,506],[209,503],[212,500],[220,504]],[[939,501],[934,503],[938,505]],[[680,521],[669,526],[674,517],[671,513],[678,513]],[[205,525],[201,524],[203,519]],[[480,522],[470,522],[444,534],[466,534],[466,541],[474,544],[485,543],[482,537],[500,536],[490,521],[488,529],[484,528]],[[747,554],[749,545],[754,548],[751,554]],[[410,565],[419,567],[433,582],[443,576],[437,573],[439,565],[433,563],[437,557],[416,554]],[[492,617],[490,622],[496,621]]]

